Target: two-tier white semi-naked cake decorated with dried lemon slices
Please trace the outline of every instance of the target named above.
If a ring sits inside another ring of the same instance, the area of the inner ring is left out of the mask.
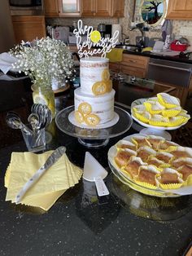
[[[114,118],[114,96],[107,58],[80,61],[81,87],[74,92],[75,120],[86,126],[106,124]]]

